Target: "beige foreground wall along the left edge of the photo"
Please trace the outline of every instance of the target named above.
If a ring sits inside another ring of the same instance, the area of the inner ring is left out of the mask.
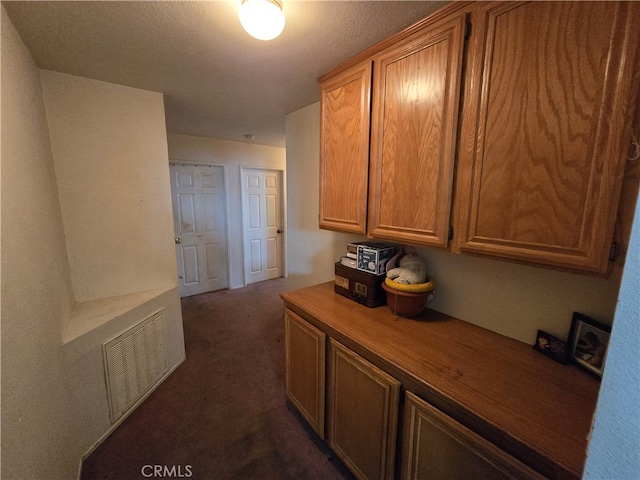
[[[73,304],[39,72],[2,7],[2,471],[71,478],[60,329]]]

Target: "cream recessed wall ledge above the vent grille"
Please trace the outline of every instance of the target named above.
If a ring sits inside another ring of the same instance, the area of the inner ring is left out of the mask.
[[[174,288],[156,288],[76,303],[63,326],[62,344],[66,345]]]

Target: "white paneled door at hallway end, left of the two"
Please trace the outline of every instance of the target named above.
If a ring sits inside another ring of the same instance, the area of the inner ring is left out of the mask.
[[[224,170],[172,164],[170,171],[180,296],[228,288]]]

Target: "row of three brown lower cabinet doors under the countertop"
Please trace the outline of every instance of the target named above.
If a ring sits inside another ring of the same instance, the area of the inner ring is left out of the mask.
[[[541,479],[537,472],[285,309],[287,397],[359,479]],[[326,412],[326,416],[325,416]]]

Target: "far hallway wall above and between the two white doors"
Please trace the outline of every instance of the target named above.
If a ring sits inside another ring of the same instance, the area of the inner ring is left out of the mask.
[[[285,170],[285,149],[265,145],[215,140],[190,135],[169,134],[172,163],[222,165],[227,191],[229,241],[229,288],[245,286],[242,248],[241,168]],[[284,192],[283,192],[284,193]],[[286,199],[286,197],[285,197]],[[283,199],[284,200],[284,199]]]

